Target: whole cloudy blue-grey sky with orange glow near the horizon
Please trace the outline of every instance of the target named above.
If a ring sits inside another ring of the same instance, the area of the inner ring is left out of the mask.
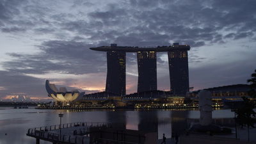
[[[245,84],[256,69],[255,0],[0,0],[0,99],[47,97],[45,80],[102,92],[106,52],[90,47],[188,44],[194,90]],[[136,55],[127,53],[127,93]],[[159,90],[170,90],[167,54],[157,53]]]

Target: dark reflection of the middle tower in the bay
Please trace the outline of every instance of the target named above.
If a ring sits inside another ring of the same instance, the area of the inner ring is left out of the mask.
[[[157,132],[158,118],[157,111],[141,111],[139,113],[139,131]]]

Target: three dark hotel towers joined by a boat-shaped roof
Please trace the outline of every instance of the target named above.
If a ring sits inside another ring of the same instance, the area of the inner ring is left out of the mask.
[[[125,53],[137,52],[138,90],[148,92],[157,90],[156,52],[168,52],[170,70],[170,90],[175,95],[186,95],[189,91],[188,51],[189,45],[174,43],[170,46],[157,47],[91,47],[93,51],[107,52],[108,74],[106,92],[125,95]]]

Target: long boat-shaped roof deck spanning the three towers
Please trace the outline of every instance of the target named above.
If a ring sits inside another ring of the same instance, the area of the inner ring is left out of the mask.
[[[101,46],[91,47],[93,51],[125,51],[125,52],[139,52],[139,51],[156,51],[156,52],[167,52],[173,50],[186,50],[189,51],[189,45],[170,45],[170,46],[157,46],[157,47],[120,47],[120,46]]]

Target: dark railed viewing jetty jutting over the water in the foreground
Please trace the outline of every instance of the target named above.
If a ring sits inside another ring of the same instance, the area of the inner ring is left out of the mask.
[[[157,133],[135,131],[129,129],[115,129],[106,123],[76,122],[74,124],[50,125],[28,129],[27,136],[40,140],[50,141],[54,144],[88,144],[88,143],[157,143]]]

